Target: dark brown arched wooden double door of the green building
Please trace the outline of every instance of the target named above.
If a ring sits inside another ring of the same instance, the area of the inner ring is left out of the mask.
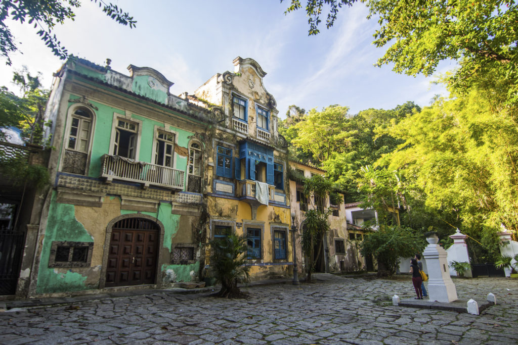
[[[125,218],[111,231],[105,287],[154,284],[159,226],[148,219]]]

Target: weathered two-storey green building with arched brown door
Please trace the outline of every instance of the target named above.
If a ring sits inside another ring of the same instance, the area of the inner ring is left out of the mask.
[[[205,136],[221,110],[71,57],[47,106],[52,188],[43,194],[28,296],[198,281],[205,255]]]

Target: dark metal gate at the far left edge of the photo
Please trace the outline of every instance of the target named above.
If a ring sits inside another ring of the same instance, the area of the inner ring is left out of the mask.
[[[0,229],[0,295],[12,295],[20,274],[25,234]]]

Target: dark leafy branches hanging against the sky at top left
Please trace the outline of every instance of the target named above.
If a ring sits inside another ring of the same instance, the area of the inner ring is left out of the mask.
[[[108,17],[122,25],[135,27],[137,23],[127,12],[124,12],[117,5],[105,3],[104,0],[90,0],[99,5],[99,8]],[[56,24],[64,24],[65,20],[74,20],[75,8],[81,7],[78,0],[38,0],[18,1],[2,0],[0,5],[0,55],[6,58],[7,65],[11,65],[10,53],[16,52],[18,46],[16,39],[9,29],[8,19],[33,25],[37,30],[36,34],[41,37],[46,46],[54,55],[65,59],[68,52],[57,37],[53,34]]]

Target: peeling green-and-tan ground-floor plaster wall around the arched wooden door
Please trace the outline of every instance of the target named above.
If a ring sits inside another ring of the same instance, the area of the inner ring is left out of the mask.
[[[56,202],[54,191],[42,245],[36,292],[55,293],[97,289],[104,250],[108,248],[104,243],[107,225],[112,219],[125,214],[134,214],[135,217],[139,217],[140,214],[157,216],[152,212],[138,214],[135,211],[121,209],[119,197],[106,197],[102,207],[61,204]],[[170,264],[171,248],[175,243],[194,242],[192,224],[197,221],[197,217],[171,214],[171,204],[162,203],[158,220],[164,225],[164,242],[158,258],[159,283],[198,280],[199,262],[188,265]],[[91,267],[49,268],[50,248],[53,241],[94,242]],[[171,279],[172,276],[174,279]]]

